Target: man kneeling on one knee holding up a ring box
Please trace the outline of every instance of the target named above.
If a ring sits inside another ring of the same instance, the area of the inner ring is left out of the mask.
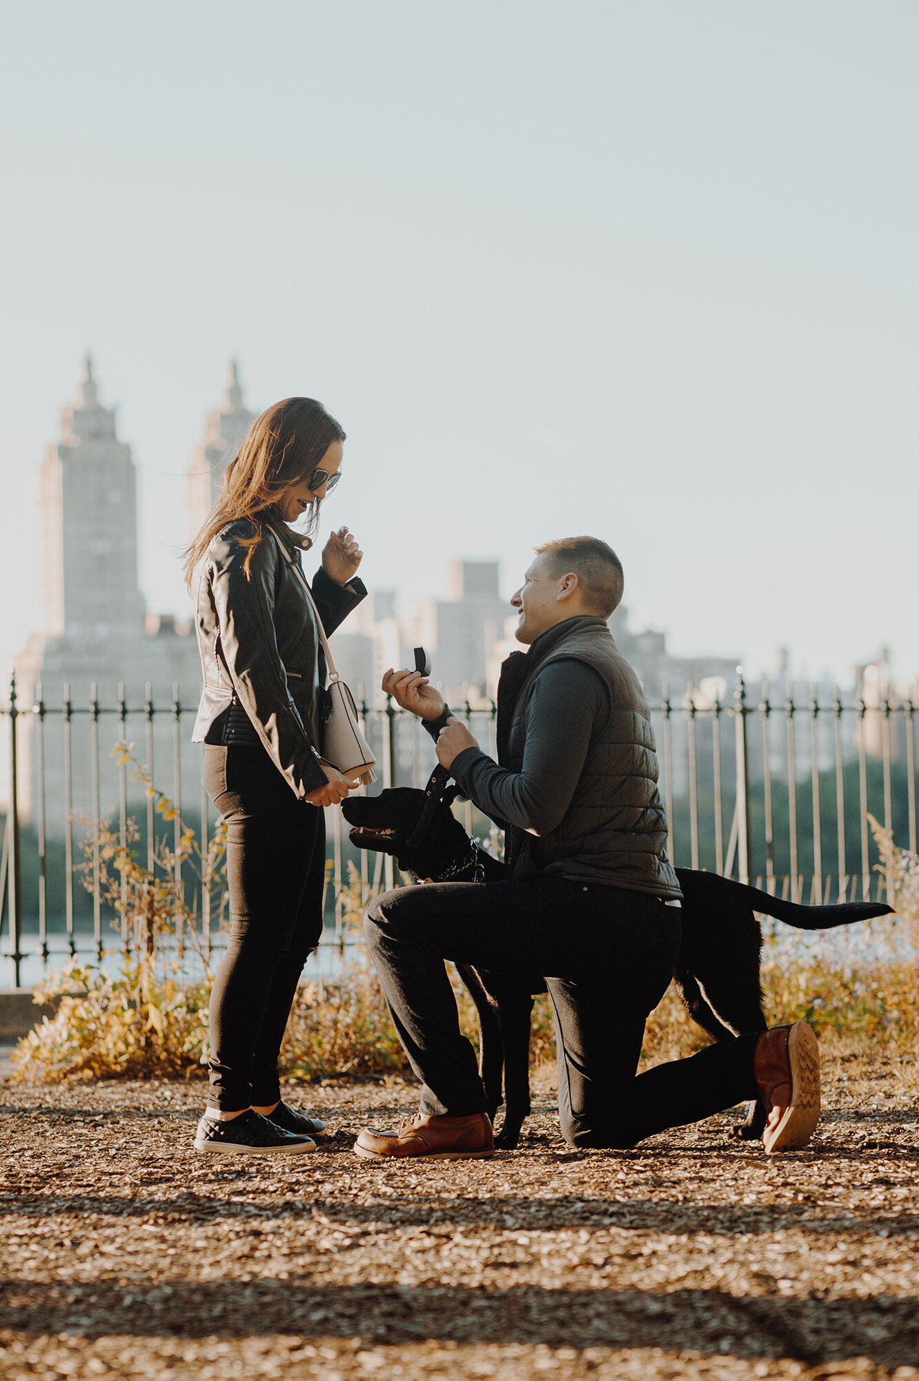
[[[671,981],[680,889],[665,853],[649,708],[607,619],[622,566],[596,537],[535,548],[504,663],[498,761],[424,677],[389,671],[437,758],[505,830],[506,876],[386,892],[364,931],[396,1029],[422,1080],[418,1113],[362,1131],[366,1157],[493,1155],[475,1051],[460,1033],[444,960],[544,974],[555,1014],[562,1134],[632,1146],[744,1099],[767,1112],[767,1150],[802,1146],[820,1117],[817,1039],[803,1023],[738,1036],[636,1077],[647,1015]]]

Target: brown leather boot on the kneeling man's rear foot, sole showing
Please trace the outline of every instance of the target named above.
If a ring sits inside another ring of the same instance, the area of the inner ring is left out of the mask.
[[[795,1022],[763,1032],[753,1073],[766,1108],[766,1150],[804,1146],[820,1121],[820,1045],[810,1026]]]

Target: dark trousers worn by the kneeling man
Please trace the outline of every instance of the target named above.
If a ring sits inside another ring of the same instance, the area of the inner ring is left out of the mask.
[[[364,934],[428,1114],[486,1108],[447,958],[498,974],[563,975],[546,985],[571,1146],[633,1146],[756,1097],[756,1033],[636,1077],[644,1021],[666,992],[680,940],[679,910],[654,896],[560,877],[429,882],[378,898]]]

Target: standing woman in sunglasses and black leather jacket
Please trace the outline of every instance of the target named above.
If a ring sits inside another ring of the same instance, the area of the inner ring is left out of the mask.
[[[326,664],[293,569],[312,541],[288,523],[305,515],[316,530],[344,441],[312,398],[275,403],[253,423],[186,554],[203,668],[193,740],[204,743],[204,786],[229,826],[230,934],[211,992],[201,1152],[299,1153],[324,1130],[280,1101],[277,1052],[322,934],[322,808],[356,783],[319,754]],[[367,594],[355,579],[360,558],[346,528],[323,548],[312,592],[328,634]]]

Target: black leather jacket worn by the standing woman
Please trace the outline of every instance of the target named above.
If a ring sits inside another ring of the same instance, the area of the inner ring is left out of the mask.
[[[195,624],[203,686],[192,742],[221,742],[218,721],[236,699],[302,800],[326,783],[317,761],[326,660],[316,617],[291,569],[305,541],[280,521],[273,526],[284,550],[266,533],[248,577],[240,545],[240,537],[253,536],[247,521],[224,528],[201,563]],[[367,594],[357,577],[338,586],[322,568],[310,588],[327,635]]]

